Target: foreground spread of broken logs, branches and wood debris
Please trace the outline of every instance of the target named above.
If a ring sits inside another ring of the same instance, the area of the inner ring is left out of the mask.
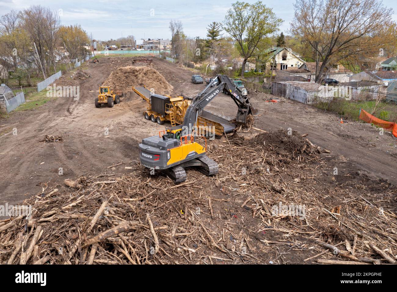
[[[330,183],[334,163],[307,139],[275,137],[218,140],[220,172],[189,169],[179,185],[137,162],[121,178],[105,168],[73,188],[43,183],[23,203],[31,219],[0,222],[0,263],[395,263],[395,188],[342,169]]]

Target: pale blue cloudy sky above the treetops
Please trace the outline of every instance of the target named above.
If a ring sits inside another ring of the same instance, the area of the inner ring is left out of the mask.
[[[189,37],[205,37],[206,27],[212,21],[223,21],[227,9],[235,1],[129,1],[129,0],[0,0],[0,15],[10,10],[22,10],[30,5],[41,4],[60,13],[62,24],[81,24],[94,39],[117,39],[134,35],[136,39],[168,39],[171,33],[168,25],[171,19],[181,20],[183,31]],[[256,1],[246,0],[254,3]],[[278,17],[284,20],[280,30],[287,33],[293,18],[295,0],[262,1],[273,8]],[[397,21],[395,0],[384,0],[387,7],[395,10],[393,19]]]

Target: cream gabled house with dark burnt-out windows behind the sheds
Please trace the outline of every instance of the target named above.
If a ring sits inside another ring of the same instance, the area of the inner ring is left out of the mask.
[[[266,68],[272,68],[274,65],[276,70],[294,70],[305,64],[301,56],[290,48],[273,47],[268,52],[271,57],[266,64]]]

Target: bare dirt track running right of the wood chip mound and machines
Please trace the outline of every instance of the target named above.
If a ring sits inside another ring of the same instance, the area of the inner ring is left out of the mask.
[[[159,68],[161,66],[160,73],[163,75],[172,74],[173,80],[189,81],[192,75],[191,71],[175,68],[174,64],[163,60],[156,60],[155,65]],[[199,92],[205,86],[193,85],[190,82],[172,85],[174,91],[187,88],[192,93]],[[302,135],[308,134],[307,138],[312,143],[329,149],[330,156],[335,157],[340,165],[345,165],[348,161],[357,171],[397,184],[397,139],[393,135],[386,132],[380,135],[376,127],[357,121],[349,120],[341,124],[340,118],[335,114],[322,112],[312,106],[282,97],[280,99],[283,102],[265,102],[270,97],[274,96],[256,93],[250,97],[254,108],[258,109],[258,116],[255,118],[257,128],[267,131],[291,128]],[[235,116],[237,112],[237,107],[227,95],[218,95],[206,109],[227,116]]]

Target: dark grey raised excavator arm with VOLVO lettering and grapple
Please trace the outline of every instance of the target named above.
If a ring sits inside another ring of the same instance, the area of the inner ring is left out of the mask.
[[[198,93],[186,110],[183,128],[188,129],[189,134],[197,122],[199,112],[220,92],[230,95],[237,105],[237,122],[246,123],[247,116],[252,113],[252,106],[248,98],[241,93],[240,89],[227,77],[227,75],[218,74],[216,78],[208,83],[203,91]]]

